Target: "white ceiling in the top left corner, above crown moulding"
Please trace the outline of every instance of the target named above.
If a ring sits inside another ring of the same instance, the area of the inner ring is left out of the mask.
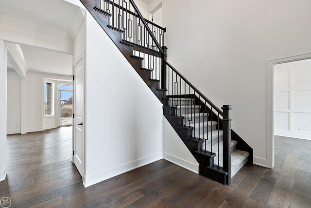
[[[65,0],[0,0],[0,16],[14,17],[66,33],[70,33],[78,11],[79,7]]]

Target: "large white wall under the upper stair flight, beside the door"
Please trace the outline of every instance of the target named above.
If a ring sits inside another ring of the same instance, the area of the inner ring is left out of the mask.
[[[163,158],[162,104],[86,16],[86,186]]]

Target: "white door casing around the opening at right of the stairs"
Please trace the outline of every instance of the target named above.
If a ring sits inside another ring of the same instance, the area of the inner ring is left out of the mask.
[[[267,167],[274,167],[274,65],[311,58],[311,52],[267,61]]]

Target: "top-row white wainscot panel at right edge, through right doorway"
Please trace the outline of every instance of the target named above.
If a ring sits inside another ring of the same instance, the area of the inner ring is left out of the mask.
[[[311,90],[311,68],[293,70],[293,88]]]

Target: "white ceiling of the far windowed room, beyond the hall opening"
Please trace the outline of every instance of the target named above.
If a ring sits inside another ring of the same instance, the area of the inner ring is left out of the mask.
[[[61,75],[72,74],[72,56],[29,45],[20,45],[26,71]]]

